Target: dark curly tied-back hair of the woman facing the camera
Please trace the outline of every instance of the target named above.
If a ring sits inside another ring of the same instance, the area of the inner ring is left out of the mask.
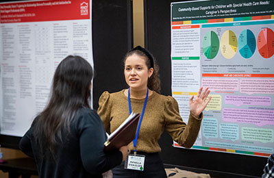
[[[153,74],[151,75],[151,77],[149,77],[147,81],[147,87],[150,90],[160,93],[161,92],[161,81],[160,81],[160,74],[159,74],[160,68],[155,58],[153,57],[153,55],[145,48],[142,48],[140,46],[135,47],[134,49],[129,50],[125,54],[125,58],[123,60],[124,65],[125,65],[125,60],[127,60],[129,56],[134,54],[139,55],[140,57],[145,59],[145,64],[147,65],[147,68],[151,68],[151,67],[153,68]]]

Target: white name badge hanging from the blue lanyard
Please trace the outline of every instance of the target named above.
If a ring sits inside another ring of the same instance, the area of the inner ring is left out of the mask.
[[[144,170],[145,166],[145,155],[127,155],[127,159],[125,160],[125,169],[132,170]]]

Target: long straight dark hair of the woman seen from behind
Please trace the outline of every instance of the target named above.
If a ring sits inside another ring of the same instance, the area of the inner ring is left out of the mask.
[[[69,55],[55,70],[51,97],[45,110],[34,120],[34,138],[42,155],[55,155],[55,145],[70,133],[73,118],[82,107],[90,107],[90,64],[77,55]],[[47,149],[47,150],[46,150]]]

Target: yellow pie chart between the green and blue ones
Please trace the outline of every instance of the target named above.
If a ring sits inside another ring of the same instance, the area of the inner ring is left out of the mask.
[[[238,40],[233,31],[227,30],[221,37],[221,53],[223,57],[231,59],[238,49]]]

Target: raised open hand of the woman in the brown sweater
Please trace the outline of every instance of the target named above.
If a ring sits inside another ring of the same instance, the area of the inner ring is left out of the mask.
[[[208,101],[206,101],[206,99],[208,98],[208,94],[210,94],[210,90],[206,88],[206,90],[204,90],[203,93],[201,94],[202,90],[203,90],[203,87],[199,89],[199,92],[197,96],[195,97],[194,101],[193,101],[194,96],[192,96],[189,99],[190,112],[196,118],[199,118],[201,112],[203,112],[203,110],[206,108],[206,106],[208,105],[211,99],[210,97]]]

